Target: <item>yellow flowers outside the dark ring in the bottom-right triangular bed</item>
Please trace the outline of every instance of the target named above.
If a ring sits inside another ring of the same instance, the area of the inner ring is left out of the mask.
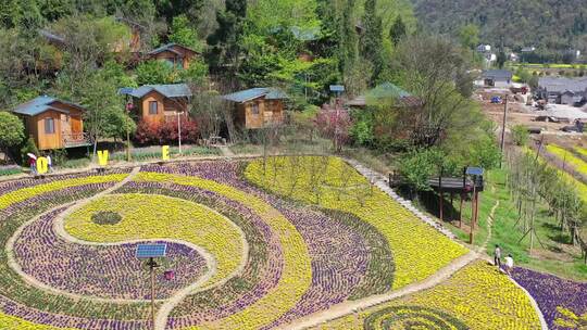
[[[422,306],[440,310],[471,329],[540,329],[538,315],[524,291],[494,266],[480,261],[433,289],[379,304],[315,329],[363,329],[365,318],[391,306]]]

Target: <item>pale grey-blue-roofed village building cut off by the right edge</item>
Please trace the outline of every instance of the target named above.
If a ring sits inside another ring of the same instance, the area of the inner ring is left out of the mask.
[[[579,105],[587,102],[587,78],[544,77],[536,94],[548,103]]]

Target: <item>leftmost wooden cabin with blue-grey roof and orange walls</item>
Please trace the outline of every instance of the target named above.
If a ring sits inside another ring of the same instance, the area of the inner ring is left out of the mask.
[[[12,110],[25,122],[39,150],[89,145],[80,105],[42,96]]]

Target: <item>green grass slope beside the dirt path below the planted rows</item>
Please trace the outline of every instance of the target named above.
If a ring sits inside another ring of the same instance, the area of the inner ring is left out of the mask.
[[[517,207],[510,198],[510,191],[505,187],[505,170],[490,170],[486,177],[486,189],[480,194],[479,221],[475,232],[475,245],[482,245],[487,238],[487,218],[499,201],[496,208],[491,227],[491,238],[488,241],[487,250],[492,254],[495,244],[499,244],[504,254],[511,253],[514,261],[536,270],[548,271],[565,278],[575,280],[587,280],[587,265],[580,258],[580,250],[566,242],[570,241],[567,234],[561,234],[555,219],[549,215],[545,203],[537,205],[536,232],[544,248],[534,240],[534,251],[529,251],[529,234],[522,242],[520,239],[524,234],[522,220],[517,224]],[[465,204],[470,205],[470,204]],[[459,202],[454,202],[458,210]],[[470,207],[463,212],[463,219],[471,217]],[[469,221],[465,221],[469,225]],[[455,223],[453,223],[455,224]],[[469,227],[466,231],[452,225],[449,228],[463,241],[469,241]]]

